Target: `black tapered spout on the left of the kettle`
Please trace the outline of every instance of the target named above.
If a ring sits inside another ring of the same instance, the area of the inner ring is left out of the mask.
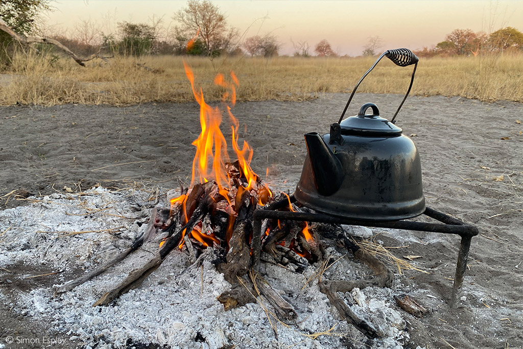
[[[305,143],[318,193],[329,196],[337,192],[343,181],[343,166],[317,132],[305,133]]]

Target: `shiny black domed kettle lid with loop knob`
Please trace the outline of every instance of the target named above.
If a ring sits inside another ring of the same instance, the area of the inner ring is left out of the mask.
[[[372,108],[372,114],[365,114]],[[358,115],[346,118],[339,123],[342,134],[355,134],[357,136],[396,136],[403,130],[387,119],[380,116],[380,111],[374,103],[364,104]]]

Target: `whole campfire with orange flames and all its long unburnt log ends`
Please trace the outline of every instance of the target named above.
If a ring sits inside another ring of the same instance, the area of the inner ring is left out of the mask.
[[[196,147],[196,155],[192,162],[190,185],[184,187],[180,184],[176,194],[172,194],[174,190],[167,193],[168,204],[158,203],[154,207],[143,234],[128,249],[76,280],[56,287],[55,291],[72,290],[105,272],[142,245],[155,246],[153,258],[131,271],[119,285],[93,304],[108,305],[130,289],[138,287],[169,253],[184,252],[190,256],[192,263],[197,264],[211,251],[215,268],[233,285],[231,290],[217,297],[225,310],[254,302],[259,295],[263,295],[274,308],[279,321],[294,322],[298,318],[297,312],[282,298],[280,292],[259,275],[258,264],[261,261],[303,273],[311,263],[318,262],[324,271],[335,263],[325,253],[316,232],[325,228],[325,224],[317,224],[316,229],[313,229],[306,221],[266,219],[261,227],[263,233],[253,234],[255,210],[277,209],[289,213],[306,213],[310,210],[295,205],[293,197],[286,193],[273,192],[251,167],[253,149],[247,141],[243,141],[242,147],[238,144],[239,122],[232,114],[236,87],[239,85],[235,74],[231,72],[228,77],[218,74],[214,79],[214,83],[224,91],[224,114],[231,123],[230,144],[233,151],[230,151],[220,130],[223,116],[221,108],[211,107],[205,102],[201,88],[195,87],[194,73],[187,63],[184,62],[184,65],[192,92],[200,105],[201,133],[192,143]],[[319,284],[319,290],[332,302],[343,320],[369,338],[383,336],[381,331],[356,316],[338,292],[372,285],[390,287],[393,274],[378,258],[359,249],[340,226],[328,224],[326,228],[322,232],[324,237],[340,241],[342,246],[354,253],[357,260],[370,266],[377,277],[372,281],[324,281]],[[322,274],[318,273],[307,283],[315,278],[321,280]]]

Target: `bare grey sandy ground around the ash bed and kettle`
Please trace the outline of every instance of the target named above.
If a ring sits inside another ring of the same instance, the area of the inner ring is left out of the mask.
[[[233,112],[244,131],[241,137],[254,148],[254,170],[265,175],[268,167],[267,181],[292,192],[305,156],[302,134],[326,133],[346,98],[333,94],[302,103],[237,104]],[[397,95],[359,94],[348,114],[374,102],[390,119],[400,100]],[[430,307],[430,299],[419,299],[432,309],[421,319],[410,318],[413,347],[523,347],[523,125],[517,120],[523,121],[521,104],[440,96],[410,97],[397,117],[396,125],[413,135],[418,147],[427,205],[480,229],[465,277],[467,299],[456,310],[448,303]],[[191,142],[200,131],[196,103],[1,107],[0,130],[0,196],[14,189],[39,195],[64,186],[79,190],[133,181],[178,187],[179,179],[190,181]],[[1,204],[26,203],[4,196]],[[388,234],[380,239],[389,246],[408,245],[398,255],[422,256],[416,266],[430,274],[406,272],[405,282],[448,302],[459,239],[443,236],[430,243],[432,235],[415,235],[419,240],[408,243]],[[14,287],[46,283],[14,285],[9,277],[0,275],[0,291],[6,294]],[[46,329],[5,306],[0,309],[0,338]]]

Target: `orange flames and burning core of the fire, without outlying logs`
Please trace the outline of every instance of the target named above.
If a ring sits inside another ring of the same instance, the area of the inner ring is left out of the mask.
[[[213,247],[220,258],[236,264],[237,270],[233,274],[237,274],[240,269],[245,271],[248,268],[248,256],[252,254],[249,250],[252,212],[269,204],[273,193],[251,168],[252,148],[247,141],[243,142],[242,147],[238,144],[239,122],[231,111],[239,85],[236,75],[231,72],[230,79],[226,79],[223,74],[218,74],[214,79],[214,83],[225,91],[222,102],[231,122],[230,144],[236,157],[232,160],[220,130],[220,108],[211,107],[205,102],[201,89],[198,91],[195,88],[195,77],[190,66],[187,63],[184,65],[192,92],[200,105],[201,133],[192,142],[196,147],[196,155],[192,162],[190,186],[181,187],[180,195],[170,199],[165,227],[170,235],[162,241],[160,247],[170,249],[178,244],[179,249],[183,249],[187,245],[187,249],[196,254]],[[290,201],[289,209],[294,210]],[[164,245],[166,241],[172,242]],[[264,241],[268,241],[274,251],[276,245],[280,245],[302,257],[308,256],[309,260],[312,258],[311,245],[314,245],[314,239],[306,223],[292,228],[280,221],[268,224]],[[237,263],[242,266],[238,267]]]

